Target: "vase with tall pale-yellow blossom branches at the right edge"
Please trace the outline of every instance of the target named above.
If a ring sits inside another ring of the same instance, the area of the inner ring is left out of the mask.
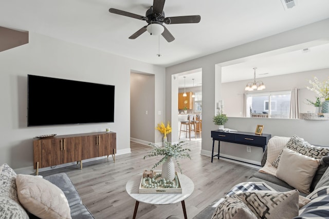
[[[329,113],[329,77],[326,81],[320,82],[317,77],[313,77],[313,80],[309,80],[309,84],[312,87],[306,87],[308,90],[312,90],[316,92],[320,99],[323,99],[324,102],[322,103],[321,112],[322,113]],[[308,101],[308,100],[307,100]]]

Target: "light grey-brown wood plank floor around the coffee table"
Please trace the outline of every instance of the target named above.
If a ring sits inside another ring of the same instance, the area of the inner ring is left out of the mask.
[[[223,197],[233,185],[246,181],[256,169],[217,158],[211,163],[211,157],[200,155],[200,141],[187,142],[192,150],[192,160],[179,160],[179,163],[183,174],[189,176],[194,183],[192,195],[185,200],[188,218],[192,218],[213,201]],[[116,156],[115,163],[109,156],[108,159],[83,163],[82,170],[77,165],[40,172],[40,175],[66,172],[81,195],[82,202],[97,219],[132,218],[135,200],[126,193],[125,184],[131,175],[150,170],[159,160],[159,157],[143,160],[149,150],[149,146],[131,142],[132,153]],[[140,203],[137,218],[166,218],[173,214],[184,218],[180,203]]]

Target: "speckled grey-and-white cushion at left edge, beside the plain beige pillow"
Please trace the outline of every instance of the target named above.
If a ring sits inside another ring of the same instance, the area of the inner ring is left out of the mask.
[[[17,197],[16,173],[8,164],[0,166],[0,216],[29,218]]]

